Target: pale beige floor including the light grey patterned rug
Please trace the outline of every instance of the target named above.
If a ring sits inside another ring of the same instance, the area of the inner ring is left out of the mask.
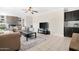
[[[71,38],[38,34],[37,38],[26,41],[21,37],[20,51],[68,51]]]

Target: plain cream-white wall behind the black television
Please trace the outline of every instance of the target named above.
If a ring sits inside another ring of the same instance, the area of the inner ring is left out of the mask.
[[[49,22],[51,34],[63,36],[64,32],[64,9],[57,8],[55,11],[47,12],[42,15],[33,16],[33,25],[35,31],[38,31],[39,22]]]

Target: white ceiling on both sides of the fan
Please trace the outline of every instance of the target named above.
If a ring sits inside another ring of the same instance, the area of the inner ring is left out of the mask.
[[[0,15],[16,15],[16,16],[24,16],[28,15],[24,11],[25,7],[0,7]],[[50,11],[56,11],[60,8],[53,7],[33,7],[33,10],[38,11],[38,14],[43,14]]]

